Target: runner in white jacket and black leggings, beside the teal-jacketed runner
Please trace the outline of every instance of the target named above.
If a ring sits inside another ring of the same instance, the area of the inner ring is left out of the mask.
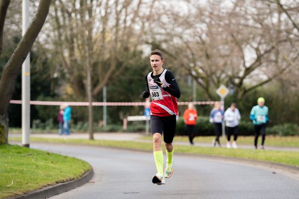
[[[240,112],[238,108],[236,108],[236,104],[232,103],[229,108],[224,112],[224,121],[225,121],[225,131],[227,135],[227,143],[226,147],[231,148],[238,148],[237,146],[237,138],[239,133],[239,120],[241,119]],[[231,135],[234,135],[234,141],[231,145],[230,137]]]

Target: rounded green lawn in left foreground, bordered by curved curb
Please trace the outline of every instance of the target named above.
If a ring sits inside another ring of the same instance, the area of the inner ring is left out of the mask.
[[[0,199],[77,179],[90,170],[82,160],[17,145],[0,145]]]

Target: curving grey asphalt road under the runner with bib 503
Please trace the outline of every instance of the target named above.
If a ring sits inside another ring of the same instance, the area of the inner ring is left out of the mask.
[[[152,153],[31,143],[89,162],[91,181],[51,199],[299,199],[299,179],[266,168],[174,154],[166,185],[151,183]],[[165,156],[164,156],[165,161]]]

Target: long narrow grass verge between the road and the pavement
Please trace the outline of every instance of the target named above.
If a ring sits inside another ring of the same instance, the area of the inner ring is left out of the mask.
[[[65,144],[86,144],[96,146],[118,147],[152,151],[152,143],[136,141],[111,141],[111,140],[85,140],[85,139],[47,139],[30,138],[32,142],[49,142]],[[10,137],[9,141],[20,141],[20,138]],[[223,157],[245,158],[269,161],[299,167],[299,152],[293,151],[267,151],[251,149],[227,149],[197,146],[175,145],[175,152],[188,154],[214,155]]]

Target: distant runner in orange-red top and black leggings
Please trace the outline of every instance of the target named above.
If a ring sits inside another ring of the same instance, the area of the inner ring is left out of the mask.
[[[197,117],[197,111],[195,110],[193,103],[189,103],[188,108],[184,112],[184,122],[187,125],[187,132],[191,145],[194,144],[193,138],[195,136],[195,124]]]

